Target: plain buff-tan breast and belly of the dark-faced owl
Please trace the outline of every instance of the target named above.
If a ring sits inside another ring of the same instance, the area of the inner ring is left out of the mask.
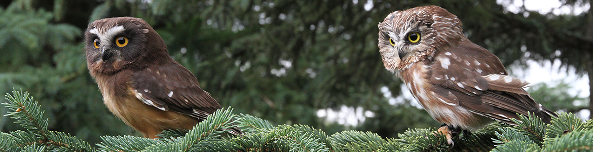
[[[198,120],[177,112],[157,109],[136,98],[132,88],[132,72],[120,71],[114,75],[96,75],[95,80],[103,94],[107,108],[125,124],[142,132],[145,137],[163,129],[191,129]],[[142,113],[141,115],[138,115]]]

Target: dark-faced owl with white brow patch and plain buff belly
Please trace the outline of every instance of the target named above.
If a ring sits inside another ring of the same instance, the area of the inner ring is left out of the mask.
[[[164,129],[192,129],[221,109],[141,18],[96,20],[84,37],[88,70],[105,105],[145,137],[156,138]],[[241,134],[238,128],[229,132]]]

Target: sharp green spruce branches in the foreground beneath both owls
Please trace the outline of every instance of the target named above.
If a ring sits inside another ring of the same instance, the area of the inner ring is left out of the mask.
[[[519,116],[512,120],[517,126],[495,122],[454,137],[453,146],[435,133],[436,128],[408,129],[398,138],[354,130],[326,135],[307,125],[272,125],[255,116],[235,115],[229,107],[189,131],[164,131],[155,140],[103,136],[95,150],[67,133],[48,131],[48,119],[27,92],[13,91],[6,99],[2,105],[11,111],[5,116],[25,130],[0,132],[0,151],[589,151],[593,147],[591,121],[584,123],[572,113],[559,113],[548,125],[537,116]],[[227,134],[235,126],[245,134]]]

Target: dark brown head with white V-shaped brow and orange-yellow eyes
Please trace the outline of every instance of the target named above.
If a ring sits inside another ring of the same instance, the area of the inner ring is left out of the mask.
[[[113,74],[125,68],[141,68],[146,62],[162,61],[162,56],[170,58],[161,36],[141,18],[96,20],[88,24],[84,36],[91,73]]]

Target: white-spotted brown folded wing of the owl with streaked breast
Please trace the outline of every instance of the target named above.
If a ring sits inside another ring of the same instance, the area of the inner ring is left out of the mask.
[[[523,88],[527,82],[508,76],[500,60],[469,40],[436,54],[429,77],[438,99],[473,113],[514,124],[516,113],[535,113],[544,122],[555,115]]]

